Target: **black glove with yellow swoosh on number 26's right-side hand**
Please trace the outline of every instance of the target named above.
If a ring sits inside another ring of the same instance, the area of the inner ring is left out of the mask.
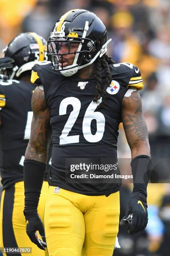
[[[120,220],[120,226],[127,226],[131,235],[145,229],[148,224],[147,207],[147,197],[134,192],[128,202],[125,216]]]

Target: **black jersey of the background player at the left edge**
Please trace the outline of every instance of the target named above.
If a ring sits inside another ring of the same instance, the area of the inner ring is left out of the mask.
[[[4,189],[23,181],[23,161],[30,138],[34,90],[35,85],[27,82],[0,80],[0,172]]]

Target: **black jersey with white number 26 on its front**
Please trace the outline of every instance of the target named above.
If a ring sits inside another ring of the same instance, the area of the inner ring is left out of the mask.
[[[52,126],[52,168],[49,184],[85,195],[107,195],[117,191],[120,184],[68,183],[65,172],[68,159],[117,159],[117,136],[122,121],[122,99],[128,86],[142,89],[138,68],[132,64],[110,65],[112,82],[107,88],[106,102],[93,102],[96,76],[80,79],[77,74],[64,77],[50,63],[35,65],[32,82],[41,83],[50,110]],[[105,70],[102,70],[104,85]],[[78,160],[76,160],[78,161]]]

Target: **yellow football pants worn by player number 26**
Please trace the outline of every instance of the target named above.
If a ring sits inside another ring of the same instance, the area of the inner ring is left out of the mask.
[[[87,196],[49,186],[44,215],[49,256],[112,256],[119,214],[119,192]]]

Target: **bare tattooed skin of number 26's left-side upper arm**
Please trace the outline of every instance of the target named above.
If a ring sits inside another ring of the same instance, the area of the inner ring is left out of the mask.
[[[44,164],[47,162],[47,148],[50,143],[50,111],[45,104],[44,91],[35,88],[32,95],[33,118],[25,160],[32,159]]]

